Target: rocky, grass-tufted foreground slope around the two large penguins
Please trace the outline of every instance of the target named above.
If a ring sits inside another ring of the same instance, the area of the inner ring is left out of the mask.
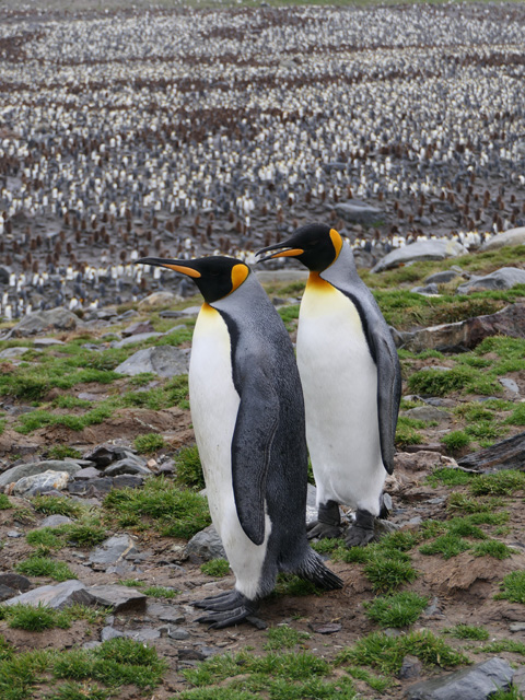
[[[226,630],[198,623],[191,606],[234,582],[213,533],[194,538],[209,525],[186,384],[198,298],[4,324],[2,698],[452,698],[440,684],[458,668],[477,674],[464,681],[477,695],[462,697],[488,697],[513,674],[501,697],[521,697],[525,288],[493,279],[523,271],[524,254],[362,272],[404,372],[389,525],[365,550],[316,545],[341,591],[281,579],[256,617]],[[304,276],[282,277],[262,279],[293,338]],[[436,295],[411,291],[429,283]],[[19,594],[66,612],[27,621]],[[156,656],[130,672],[143,644]],[[429,678],[441,689],[415,685]]]

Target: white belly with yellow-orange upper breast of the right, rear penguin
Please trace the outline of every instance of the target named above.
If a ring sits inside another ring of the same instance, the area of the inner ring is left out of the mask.
[[[315,275],[301,303],[296,349],[317,504],[332,500],[377,515],[386,477],[377,369],[354,304]]]

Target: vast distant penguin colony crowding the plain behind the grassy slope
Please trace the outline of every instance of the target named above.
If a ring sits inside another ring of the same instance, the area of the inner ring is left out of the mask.
[[[1,12],[0,317],[96,317],[178,289],[139,257],[312,220],[369,266],[525,224],[523,3]]]

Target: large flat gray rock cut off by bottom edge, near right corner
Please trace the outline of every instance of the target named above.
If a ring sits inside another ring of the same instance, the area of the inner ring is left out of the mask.
[[[431,678],[411,686],[409,700],[485,700],[499,688],[508,689],[514,670],[503,658],[489,658],[481,664]]]

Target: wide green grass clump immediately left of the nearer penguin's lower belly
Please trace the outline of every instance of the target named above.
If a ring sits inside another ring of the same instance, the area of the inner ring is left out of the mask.
[[[119,526],[155,528],[168,537],[189,539],[210,522],[203,497],[178,489],[165,478],[148,479],[142,489],[110,491],[104,508]]]

